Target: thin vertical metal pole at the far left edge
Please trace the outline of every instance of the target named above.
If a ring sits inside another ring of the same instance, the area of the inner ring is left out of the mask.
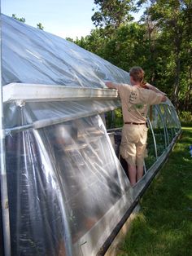
[[[6,170],[6,150],[5,150],[5,130],[2,102],[2,14],[0,0],[0,181],[1,181],[1,201],[2,201],[2,229],[5,256],[11,255],[11,237],[9,221],[9,203],[7,192],[7,170]]]

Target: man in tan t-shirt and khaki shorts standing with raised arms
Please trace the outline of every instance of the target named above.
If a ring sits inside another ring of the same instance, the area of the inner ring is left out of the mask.
[[[120,155],[128,163],[129,180],[133,186],[143,175],[148,130],[146,127],[148,106],[160,104],[166,101],[166,97],[154,86],[143,83],[144,72],[142,68],[131,68],[129,75],[132,86],[114,82],[106,82],[106,86],[118,90],[120,95],[124,119]]]

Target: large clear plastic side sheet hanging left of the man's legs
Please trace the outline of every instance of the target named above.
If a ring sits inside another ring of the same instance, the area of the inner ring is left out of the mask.
[[[8,135],[6,149],[11,254],[80,255],[87,236],[95,255],[133,203],[101,117]]]

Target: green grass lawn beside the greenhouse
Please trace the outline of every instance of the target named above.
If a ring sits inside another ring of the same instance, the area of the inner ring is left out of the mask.
[[[183,128],[168,161],[142,197],[118,256],[192,255],[192,128]]]

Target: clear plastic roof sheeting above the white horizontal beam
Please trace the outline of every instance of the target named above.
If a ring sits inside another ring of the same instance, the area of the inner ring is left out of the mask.
[[[16,36],[15,36],[16,35]],[[129,73],[75,43],[2,15],[2,83],[105,87]]]

